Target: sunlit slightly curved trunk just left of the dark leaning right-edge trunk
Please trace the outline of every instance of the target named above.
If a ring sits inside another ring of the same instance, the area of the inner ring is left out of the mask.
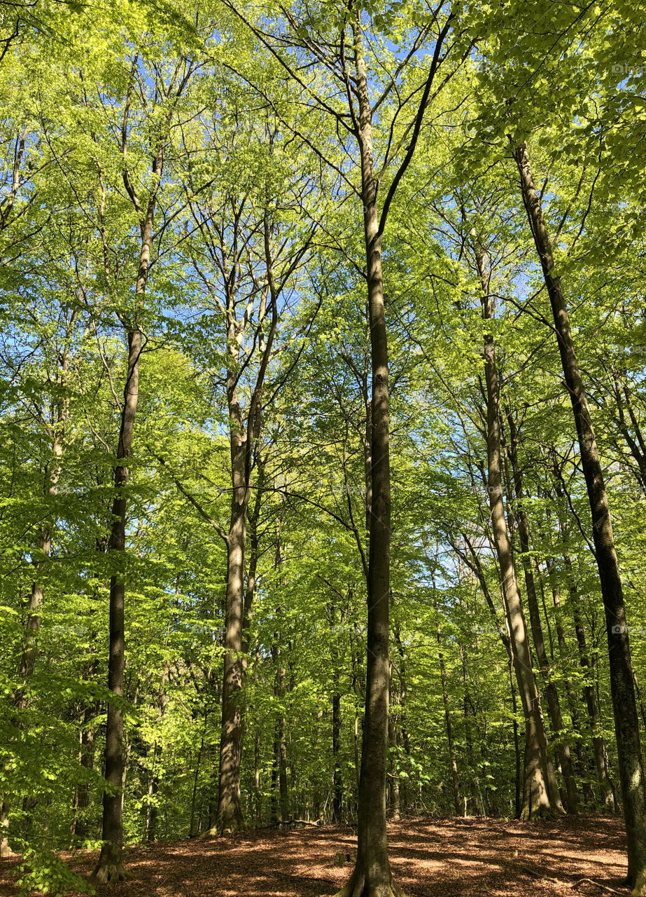
[[[478,274],[482,285],[482,317],[493,317],[489,292],[490,268],[487,253],[474,239]],[[521,593],[516,579],[512,545],[504,516],[503,456],[500,427],[500,387],[493,335],[485,335],[485,380],[487,384],[487,490],[495,553],[500,565],[504,604],[509,623],[513,668],[525,717],[525,766],[521,817],[533,819],[561,809],[556,776],[547,751],[547,735],[540,707],[536,680],[532,671],[530,641],[522,610]]]

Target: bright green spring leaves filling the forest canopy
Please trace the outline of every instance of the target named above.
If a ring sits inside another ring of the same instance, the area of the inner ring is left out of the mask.
[[[523,475],[521,497],[508,475],[505,508],[530,523],[516,565],[521,577],[528,562],[538,581],[564,715],[550,744],[572,746],[578,781],[594,790],[591,738],[603,736],[614,774],[590,511],[512,148],[530,144],[556,235],[642,684],[640,13],[517,0],[451,12],[375,0],[357,13],[356,34],[337,0],[39,3],[14,37],[13,13],[0,17],[0,794],[22,893],[90,893],[56,851],[99,842],[108,699],[125,716],[126,841],[212,823],[236,409],[254,443],[245,813],[278,823],[282,773],[290,818],[331,819],[335,781],[343,819],[356,817],[372,384],[350,72],[358,37],[382,209],[435,41],[448,35],[383,232],[390,802],[399,786],[406,812],[453,813],[454,762],[465,813],[515,810],[523,718],[487,506],[486,335],[504,441],[513,428]],[[142,300],[134,285],[153,194]],[[492,265],[487,322],[476,244]],[[116,553],[107,539],[133,322],[144,348]],[[106,685],[111,577],[126,589],[122,698]],[[599,696],[594,732],[586,688]],[[595,800],[599,790],[589,809]]]

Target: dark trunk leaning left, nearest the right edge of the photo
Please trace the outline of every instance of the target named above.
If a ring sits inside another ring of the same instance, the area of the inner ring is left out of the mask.
[[[626,625],[624,589],[619,575],[615,537],[610,520],[606,484],[599,460],[599,448],[592,428],[588,398],[583,388],[579,362],[574,350],[570,318],[561,278],[554,274],[554,253],[534,187],[526,144],[519,146],[515,160],[521,176],[522,199],[537,248],[552,307],[558,349],[565,384],[572,402],[581,467],[585,476],[592,515],[592,540],[599,569],[601,595],[606,615],[610,690],[615,715],[624,820],[628,846],[628,884],[635,894],[646,893],[646,782],[642,760],[640,724],[634,690],[633,662]]]

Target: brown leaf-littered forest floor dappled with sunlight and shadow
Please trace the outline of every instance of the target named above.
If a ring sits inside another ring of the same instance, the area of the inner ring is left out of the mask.
[[[556,823],[411,819],[389,825],[392,870],[409,897],[628,895],[619,820]],[[129,878],[99,897],[329,897],[352,868],[354,832],[306,826],[236,839],[159,841],[127,851]],[[96,855],[65,854],[89,875]],[[0,860],[0,897],[15,897],[16,860]]]

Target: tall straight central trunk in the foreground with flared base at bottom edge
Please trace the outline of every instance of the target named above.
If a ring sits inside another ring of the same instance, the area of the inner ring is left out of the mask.
[[[371,401],[371,515],[368,551],[368,619],[366,710],[361,745],[358,795],[357,863],[340,897],[392,897],[401,893],[392,882],[386,836],[386,754],[390,684],[390,388],[388,338],[383,305],[382,236],[377,213],[378,182],[373,169],[372,110],[366,62],[353,23],[354,59],[361,158],[361,195],[364,203],[366,280],[370,350]]]

